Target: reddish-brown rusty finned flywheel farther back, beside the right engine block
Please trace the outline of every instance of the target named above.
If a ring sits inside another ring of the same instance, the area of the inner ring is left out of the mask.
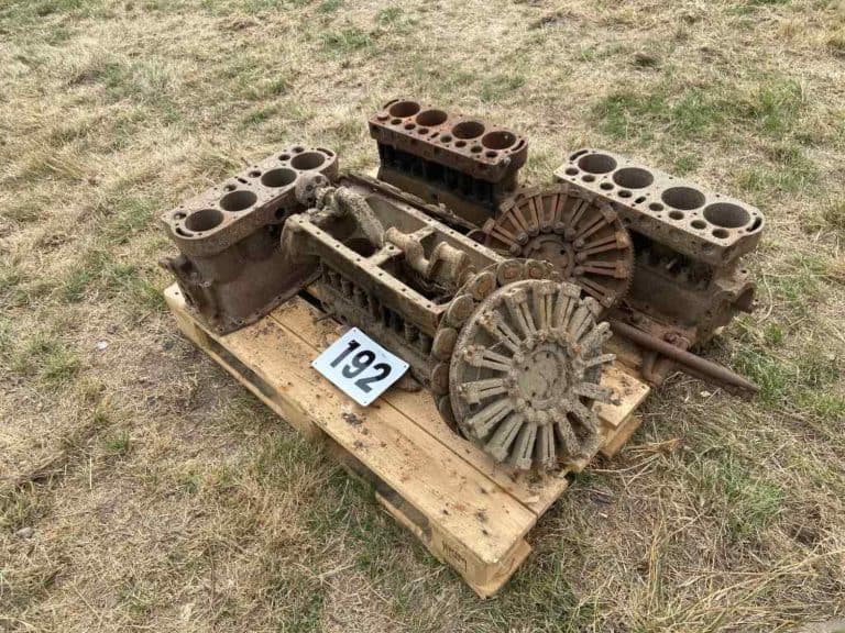
[[[485,245],[550,262],[604,309],[628,291],[634,247],[613,207],[567,184],[524,189],[483,226]]]

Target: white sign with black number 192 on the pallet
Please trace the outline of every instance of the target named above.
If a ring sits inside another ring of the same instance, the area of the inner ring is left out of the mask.
[[[408,370],[405,360],[358,327],[334,341],[311,367],[362,407],[370,406]]]

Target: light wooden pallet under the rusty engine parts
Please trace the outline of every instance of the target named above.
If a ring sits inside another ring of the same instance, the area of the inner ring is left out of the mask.
[[[359,407],[311,368],[343,331],[300,298],[227,335],[207,331],[177,286],[165,299],[180,330],[271,409],[322,442],[378,502],[482,597],[495,593],[530,552],[525,537],[566,490],[564,476],[513,477],[440,419],[431,396],[388,389]],[[649,388],[614,365],[604,380],[619,397],[600,406],[603,452],[639,424]]]

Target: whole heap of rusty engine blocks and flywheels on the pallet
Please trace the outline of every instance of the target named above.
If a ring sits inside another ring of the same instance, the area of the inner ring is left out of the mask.
[[[410,366],[443,420],[515,470],[580,469],[621,360],[756,387],[691,352],[753,307],[759,210],[611,152],[527,187],[527,141],[416,100],[369,121],[378,178],[293,146],[162,215],[163,266],[218,332],[300,291]],[[611,336],[613,340],[611,341]],[[634,354],[630,354],[630,351]]]

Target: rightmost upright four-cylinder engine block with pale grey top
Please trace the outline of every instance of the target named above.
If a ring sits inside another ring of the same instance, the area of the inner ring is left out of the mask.
[[[759,209],[612,152],[574,152],[555,175],[612,206],[630,232],[635,273],[615,320],[685,349],[751,310],[740,258],[759,243]],[[670,367],[646,365],[657,382]]]

